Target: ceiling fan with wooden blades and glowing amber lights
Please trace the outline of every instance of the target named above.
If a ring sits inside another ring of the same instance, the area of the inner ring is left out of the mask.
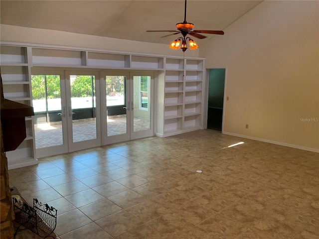
[[[182,34],[182,37],[178,37],[174,42],[170,44],[170,48],[172,49],[182,49],[182,51],[186,51],[187,49],[187,43],[186,40],[189,40],[189,45],[190,49],[197,49],[198,45],[190,38],[186,37],[187,35],[191,35],[193,37],[196,37],[198,39],[204,39],[207,36],[204,36],[199,33],[204,33],[204,34],[217,34],[217,35],[224,35],[223,31],[216,31],[216,30],[193,30],[194,24],[187,22],[186,21],[186,0],[185,0],[185,11],[184,11],[184,21],[176,23],[177,30],[147,30],[147,32],[174,32],[165,36],[161,37],[166,37],[170,35],[175,35],[175,34]],[[182,42],[180,44],[180,41]]]

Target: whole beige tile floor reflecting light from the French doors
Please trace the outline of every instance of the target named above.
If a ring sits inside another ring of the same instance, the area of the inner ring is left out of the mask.
[[[319,239],[319,154],[209,129],[44,158],[9,180],[58,209],[60,239]]]

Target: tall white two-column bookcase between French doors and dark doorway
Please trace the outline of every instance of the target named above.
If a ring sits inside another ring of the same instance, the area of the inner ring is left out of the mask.
[[[203,59],[165,58],[158,95],[164,93],[157,135],[166,137],[202,128]]]

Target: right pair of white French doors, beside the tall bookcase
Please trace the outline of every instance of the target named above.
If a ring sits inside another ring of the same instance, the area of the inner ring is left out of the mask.
[[[154,73],[102,72],[103,144],[154,135]]]

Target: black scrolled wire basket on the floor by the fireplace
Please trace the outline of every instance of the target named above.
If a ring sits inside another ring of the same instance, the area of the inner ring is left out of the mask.
[[[53,238],[50,236],[56,227],[57,210],[48,204],[42,204],[37,199],[33,199],[33,207],[26,203],[21,203],[16,198],[13,200],[15,222],[23,226],[41,238]]]

